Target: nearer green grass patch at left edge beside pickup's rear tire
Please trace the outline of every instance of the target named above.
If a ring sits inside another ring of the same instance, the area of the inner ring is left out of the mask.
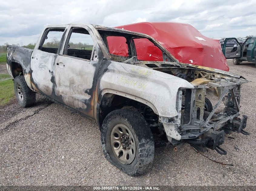
[[[0,106],[4,106],[15,97],[13,81],[10,75],[0,74]]]

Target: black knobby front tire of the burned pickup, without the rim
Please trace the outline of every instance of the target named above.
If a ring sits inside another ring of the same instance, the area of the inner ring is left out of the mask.
[[[133,134],[136,154],[131,164],[122,164],[111,148],[111,130],[116,124],[124,124]],[[102,150],[107,160],[130,176],[139,176],[150,170],[154,160],[154,139],[144,117],[132,108],[110,112],[101,127]]]

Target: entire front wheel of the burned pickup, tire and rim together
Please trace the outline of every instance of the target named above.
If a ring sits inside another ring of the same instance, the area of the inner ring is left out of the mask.
[[[107,160],[130,176],[150,170],[154,160],[154,139],[137,110],[110,112],[101,127],[101,143]]]

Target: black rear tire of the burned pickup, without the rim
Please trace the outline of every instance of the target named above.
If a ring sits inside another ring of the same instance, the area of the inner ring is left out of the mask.
[[[22,89],[23,99],[20,99],[17,86]],[[21,107],[30,107],[35,104],[35,92],[33,92],[25,81],[24,76],[17,76],[14,79],[14,92]]]

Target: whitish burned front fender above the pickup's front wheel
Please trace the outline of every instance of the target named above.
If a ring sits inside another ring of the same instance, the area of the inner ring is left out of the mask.
[[[113,93],[151,107],[159,116],[174,117],[180,88],[194,89],[188,81],[137,65],[111,62],[99,78],[99,97]],[[100,100],[98,103],[101,103]]]

